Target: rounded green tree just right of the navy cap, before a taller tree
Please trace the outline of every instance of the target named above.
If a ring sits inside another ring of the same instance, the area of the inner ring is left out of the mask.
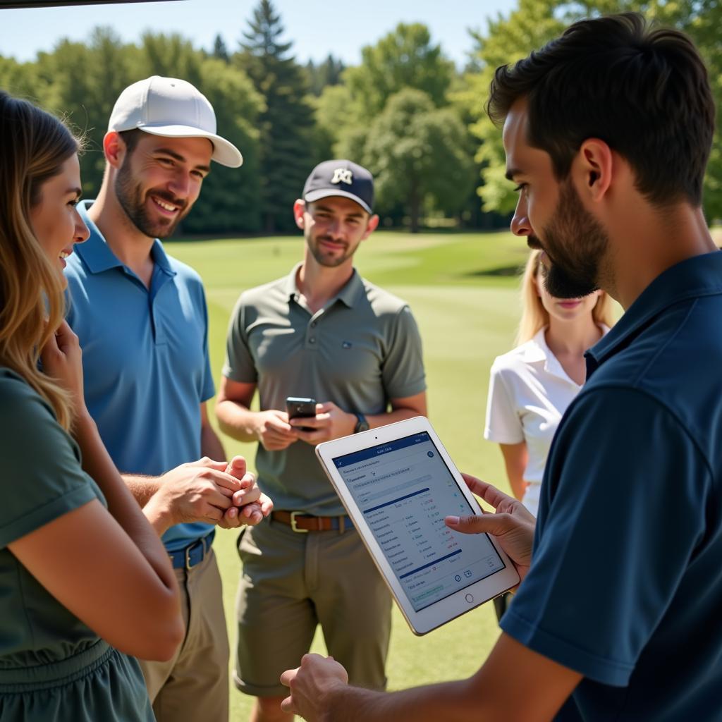
[[[371,126],[364,160],[375,175],[379,206],[403,202],[413,233],[425,205],[456,212],[474,184],[464,124],[411,88],[389,98]]]

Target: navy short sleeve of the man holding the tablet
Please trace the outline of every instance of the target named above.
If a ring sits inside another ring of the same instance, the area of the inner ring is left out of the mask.
[[[706,460],[665,406],[629,388],[583,392],[554,439],[531,570],[501,627],[624,686],[703,538],[712,494]]]

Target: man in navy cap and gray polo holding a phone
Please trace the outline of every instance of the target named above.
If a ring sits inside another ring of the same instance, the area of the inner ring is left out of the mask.
[[[353,266],[378,225],[371,174],[349,160],[322,162],[293,211],[303,262],[240,296],[216,407],[226,433],[259,442],[258,484],[277,509],[239,544],[235,684],[258,697],[255,722],[291,719],[279,707],[279,675],[308,651],[318,624],[356,684],[385,686],[391,596],[313,447],[426,414],[411,311]],[[290,420],[287,396],[320,401],[316,417]]]

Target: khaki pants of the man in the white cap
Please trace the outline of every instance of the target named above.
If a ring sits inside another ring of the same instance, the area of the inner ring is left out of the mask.
[[[211,549],[175,569],[186,638],[167,662],[140,661],[157,722],[227,722],[228,636],[221,578]]]

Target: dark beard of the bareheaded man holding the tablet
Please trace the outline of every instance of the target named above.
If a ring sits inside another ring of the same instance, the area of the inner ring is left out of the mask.
[[[554,215],[542,231],[544,243],[529,236],[531,248],[542,248],[551,264],[544,267],[544,286],[557,298],[582,298],[599,288],[609,236],[583,206],[572,182],[560,186]]]

